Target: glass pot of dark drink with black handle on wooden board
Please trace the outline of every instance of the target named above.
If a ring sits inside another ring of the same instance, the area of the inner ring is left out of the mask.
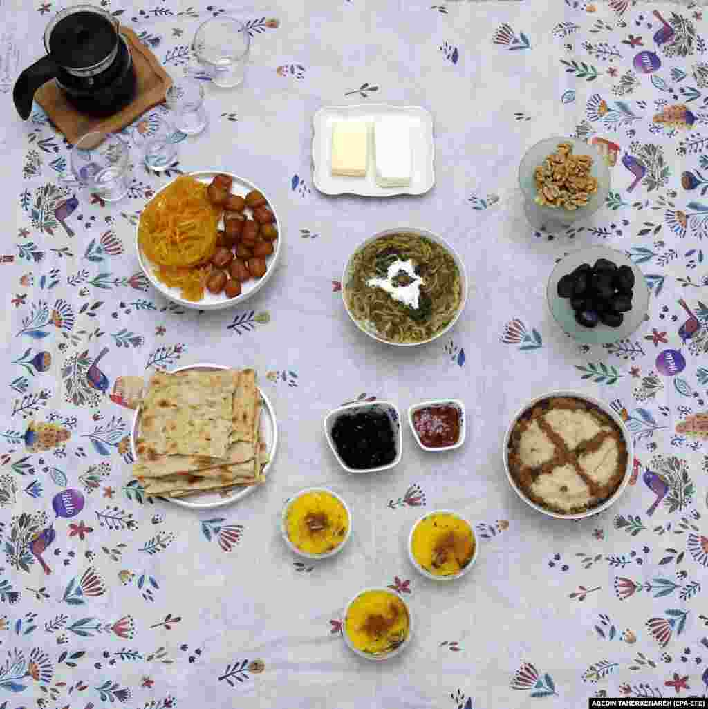
[[[55,79],[70,103],[90,116],[110,116],[135,97],[135,69],[118,20],[94,5],[74,5],[49,23],[47,55],[15,82],[13,100],[24,119],[35,91]]]

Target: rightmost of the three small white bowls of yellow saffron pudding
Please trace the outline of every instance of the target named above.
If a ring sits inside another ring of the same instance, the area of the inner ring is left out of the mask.
[[[468,520],[452,510],[429,512],[411,529],[408,556],[426,578],[454,581],[477,559],[475,532]]]

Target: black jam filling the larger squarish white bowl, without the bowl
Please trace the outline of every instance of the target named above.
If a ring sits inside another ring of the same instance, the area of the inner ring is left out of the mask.
[[[344,464],[354,470],[388,465],[396,457],[394,430],[385,413],[341,415],[332,427],[332,440]]]

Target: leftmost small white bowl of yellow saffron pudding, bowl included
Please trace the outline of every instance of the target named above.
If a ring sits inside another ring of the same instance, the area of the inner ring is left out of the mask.
[[[280,531],[295,554],[326,559],[344,548],[352,532],[347,503],[326,488],[307,488],[283,508]]]

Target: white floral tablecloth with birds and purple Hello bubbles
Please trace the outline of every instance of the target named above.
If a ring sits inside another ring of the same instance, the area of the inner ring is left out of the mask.
[[[708,14],[440,1],[104,0],[174,75],[209,16],[233,12],[253,38],[245,84],[205,82],[209,127],[168,172],[140,163],[163,109],[126,128],[131,190],[115,204],[67,189],[62,135],[38,106],[26,123],[12,108],[61,6],[0,2],[1,708],[575,708],[707,691]],[[314,111],[372,101],[433,113],[425,196],[312,186]],[[516,186],[521,155],[549,133],[602,139],[613,164],[605,208],[565,233],[530,228]],[[184,311],[140,272],[135,223],[167,179],[212,168],[272,196],[282,260],[243,307]],[[353,246],[397,225],[450,240],[470,278],[449,337],[403,351],[356,330],[339,292]],[[590,244],[629,254],[651,288],[646,322],[607,347],[569,340],[545,302],[557,259]],[[194,513],[131,481],[121,391],[205,360],[258,369],[281,445],[253,496]],[[501,450],[524,401],[568,387],[611,402],[636,442],[624,497],[576,524],[524,506]],[[323,416],[345,401],[443,396],[468,410],[456,452],[423,454],[406,431],[397,468],[347,476],[326,447]],[[347,549],[321,564],[292,557],[277,530],[284,500],[311,485],[353,511]],[[406,558],[433,508],[474,521],[480,554],[459,583],[428,582]],[[341,614],[381,585],[410,603],[415,637],[370,664],[345,647]]]

